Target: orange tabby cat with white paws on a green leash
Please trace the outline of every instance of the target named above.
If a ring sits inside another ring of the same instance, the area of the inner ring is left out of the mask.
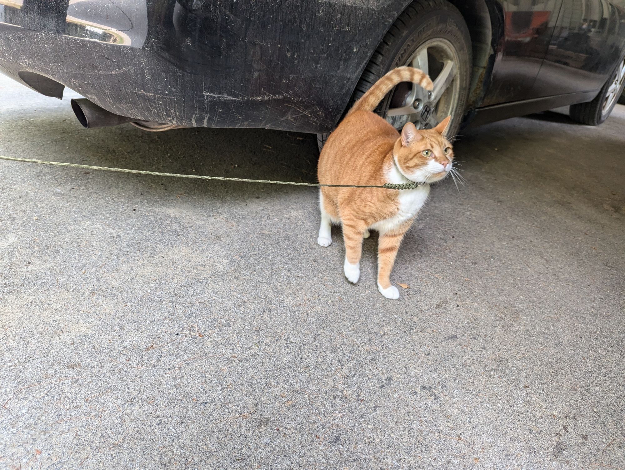
[[[379,79],[329,136],[319,157],[319,183],[382,185],[426,183],[416,189],[322,187],[321,227],[317,242],[332,243],[331,224],[342,224],[345,241],[344,272],[349,281],[360,277],[362,239],[379,232],[377,289],[388,299],[399,291],[389,279],[404,234],[429,193],[429,183],[452,171],[454,153],[445,138],[450,117],[434,129],[407,123],[401,135],[377,114],[377,104],[401,82],[431,90],[432,81],[419,69],[399,67]]]

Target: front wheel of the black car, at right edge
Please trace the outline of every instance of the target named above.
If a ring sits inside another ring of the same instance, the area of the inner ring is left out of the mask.
[[[587,103],[572,104],[569,116],[574,121],[588,126],[602,124],[612,113],[616,102],[621,102],[623,86],[625,86],[625,57],[616,64],[596,98]]]

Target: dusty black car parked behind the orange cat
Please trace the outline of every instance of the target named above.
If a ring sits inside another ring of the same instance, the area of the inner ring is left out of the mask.
[[[320,141],[391,68],[377,110],[451,128],[561,106],[600,124],[625,81],[625,0],[0,0],[0,71],[69,87],[86,127],[271,128]]]

